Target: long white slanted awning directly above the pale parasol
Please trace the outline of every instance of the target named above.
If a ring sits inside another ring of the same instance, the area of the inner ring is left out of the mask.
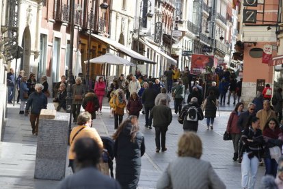
[[[115,40],[111,40],[111,39],[105,38],[103,36],[98,36],[96,34],[92,34],[92,36],[94,38],[98,39],[98,40],[101,40],[101,41],[107,43],[108,45],[111,45],[117,51],[124,53],[126,55],[129,55],[131,58],[133,58],[135,60],[139,60],[139,61],[146,62],[146,63],[149,63],[149,64],[157,64],[156,62],[144,57],[143,55],[133,51],[132,49],[125,47],[124,45],[120,44],[119,42],[117,42]]]

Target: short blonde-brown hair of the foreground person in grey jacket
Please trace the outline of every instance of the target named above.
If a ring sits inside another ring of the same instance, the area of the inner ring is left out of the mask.
[[[179,157],[195,157],[200,159],[202,156],[202,140],[194,132],[185,132],[178,142]]]

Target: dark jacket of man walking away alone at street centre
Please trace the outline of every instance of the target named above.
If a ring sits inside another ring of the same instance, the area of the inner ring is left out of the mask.
[[[150,118],[153,118],[153,127],[167,128],[172,122],[172,111],[167,105],[155,105],[150,111]]]

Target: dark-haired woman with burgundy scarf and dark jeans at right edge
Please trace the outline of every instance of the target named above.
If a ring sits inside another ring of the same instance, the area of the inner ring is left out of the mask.
[[[267,121],[262,135],[265,139],[265,175],[276,177],[278,160],[282,155],[283,138],[279,123],[275,118],[270,118]]]

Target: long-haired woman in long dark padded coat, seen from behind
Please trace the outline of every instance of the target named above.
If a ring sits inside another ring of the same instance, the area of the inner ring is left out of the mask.
[[[141,157],[146,151],[144,135],[139,132],[137,116],[129,116],[113,135],[115,140],[116,180],[122,188],[137,188],[141,173]]]

